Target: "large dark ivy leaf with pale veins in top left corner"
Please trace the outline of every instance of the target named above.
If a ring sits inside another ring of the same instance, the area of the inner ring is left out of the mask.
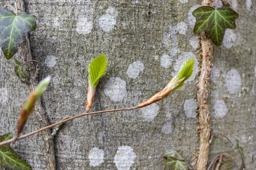
[[[28,12],[16,15],[8,8],[0,8],[0,46],[6,59],[18,51],[26,33],[35,30],[36,20],[36,16]]]

